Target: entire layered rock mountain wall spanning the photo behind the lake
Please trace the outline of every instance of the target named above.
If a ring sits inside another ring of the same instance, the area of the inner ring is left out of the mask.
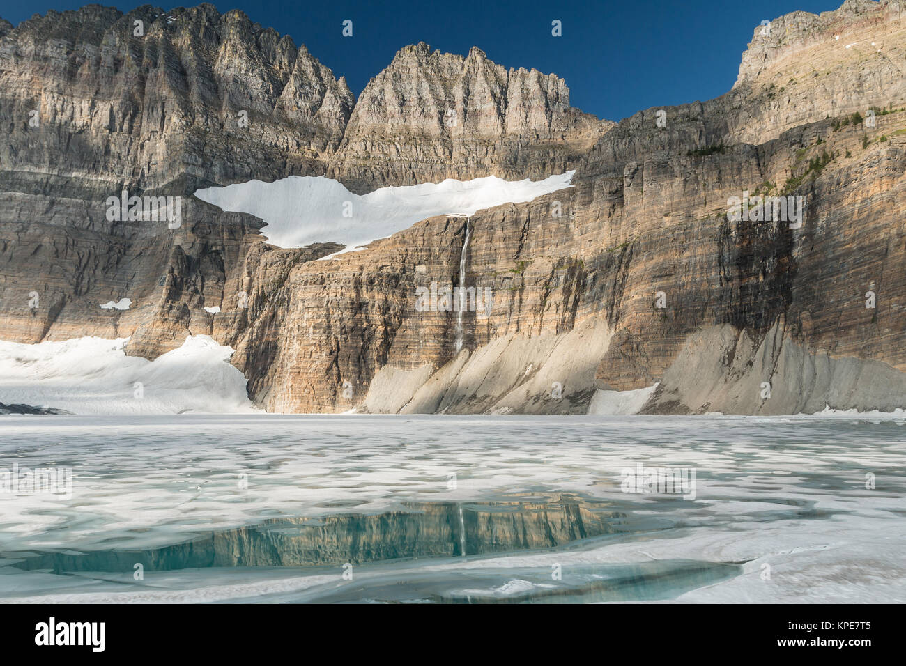
[[[554,75],[426,44],[353,109],[342,79],[242,14],[159,14],[0,25],[0,337],[130,334],[153,357],[212,334],[276,411],[584,413],[596,390],[659,381],[647,411],[906,407],[901,5],[788,14],[755,29],[727,94],[615,124],[570,108]],[[189,197],[290,174],[366,192],[568,169],[573,188],[324,261],[339,246],[268,246],[259,220]],[[123,186],[185,197],[181,226],[107,221]],[[747,194],[792,197],[801,226],[728,218]],[[425,312],[432,283],[493,306]],[[130,310],[98,308],[123,296]]]

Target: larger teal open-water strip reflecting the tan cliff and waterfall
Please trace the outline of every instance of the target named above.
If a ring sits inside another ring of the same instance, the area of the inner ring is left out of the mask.
[[[212,566],[362,564],[413,557],[482,555],[553,548],[626,531],[626,515],[603,502],[555,500],[407,503],[379,515],[284,517],[149,550],[44,552],[15,566],[69,572],[146,571]]]

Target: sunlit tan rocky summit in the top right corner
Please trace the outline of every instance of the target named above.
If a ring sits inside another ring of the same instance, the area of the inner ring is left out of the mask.
[[[752,144],[820,118],[863,116],[906,97],[902,0],[846,0],[822,14],[794,12],[759,26],[728,98],[734,137]]]

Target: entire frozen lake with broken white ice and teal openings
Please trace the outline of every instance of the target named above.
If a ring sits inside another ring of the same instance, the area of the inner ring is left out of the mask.
[[[903,602],[904,445],[901,416],[3,416],[0,601]]]

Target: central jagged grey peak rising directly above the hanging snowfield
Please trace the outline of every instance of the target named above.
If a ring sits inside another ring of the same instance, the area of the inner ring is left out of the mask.
[[[352,191],[573,169],[612,123],[570,107],[563,79],[407,46],[365,87],[330,175]]]

